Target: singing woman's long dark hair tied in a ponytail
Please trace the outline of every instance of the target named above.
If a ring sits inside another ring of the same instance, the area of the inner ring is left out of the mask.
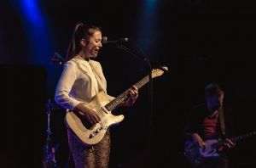
[[[81,50],[81,39],[84,38],[85,40],[89,40],[90,36],[93,36],[96,31],[102,31],[101,27],[96,25],[85,25],[82,22],[78,22],[73,30],[73,35],[67,48],[67,55],[65,61],[67,62],[68,60],[73,59],[73,57],[79,53],[79,51]]]

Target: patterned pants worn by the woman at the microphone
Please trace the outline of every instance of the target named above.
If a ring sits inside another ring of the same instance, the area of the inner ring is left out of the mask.
[[[76,168],[108,168],[110,154],[110,131],[106,132],[100,143],[86,147],[79,142],[74,133],[67,129],[69,148],[73,152]]]

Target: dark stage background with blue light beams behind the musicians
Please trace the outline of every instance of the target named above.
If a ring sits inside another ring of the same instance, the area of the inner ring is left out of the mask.
[[[255,131],[253,3],[34,1],[44,14],[47,42],[44,35],[28,29],[17,2],[0,5],[3,167],[42,167],[46,104],[53,102],[61,75],[61,65],[50,59],[55,52],[65,55],[77,21],[101,25],[103,36],[109,38],[130,37],[127,48],[146,55],[153,68],[163,64],[169,68],[154,78],[153,92],[148,84],[140,89],[135,106],[113,111],[124,114],[125,120],[112,129],[110,167],[189,167],[183,157],[183,129],[189,109],[204,101],[204,87],[210,82],[224,87],[225,101],[236,115],[237,134]],[[36,40],[28,43],[29,36]],[[143,59],[114,46],[102,48],[97,60],[113,96],[148,74]],[[63,109],[50,109],[51,142],[59,146],[55,157],[60,167],[69,154],[64,115]],[[237,143],[231,151],[232,167],[256,167],[255,149],[255,137]],[[73,167],[73,160],[69,165]]]

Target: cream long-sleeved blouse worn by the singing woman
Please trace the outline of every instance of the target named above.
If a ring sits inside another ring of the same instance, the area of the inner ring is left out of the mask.
[[[65,109],[73,110],[79,103],[89,103],[101,91],[107,94],[107,81],[101,64],[91,59],[86,61],[77,55],[63,65],[55,89],[55,102]],[[109,96],[109,101],[112,99]]]

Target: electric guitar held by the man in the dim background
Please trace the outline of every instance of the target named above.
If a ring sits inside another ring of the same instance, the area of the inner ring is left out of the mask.
[[[248,137],[253,137],[256,132],[249,132],[247,134],[230,137],[230,140],[234,143],[240,142]],[[208,139],[204,141],[205,148],[200,148],[197,144],[193,143],[191,140],[185,141],[184,144],[184,155],[186,156],[189,163],[193,166],[201,165],[201,163],[210,157],[218,157],[218,148],[224,146],[224,140],[218,139]]]

